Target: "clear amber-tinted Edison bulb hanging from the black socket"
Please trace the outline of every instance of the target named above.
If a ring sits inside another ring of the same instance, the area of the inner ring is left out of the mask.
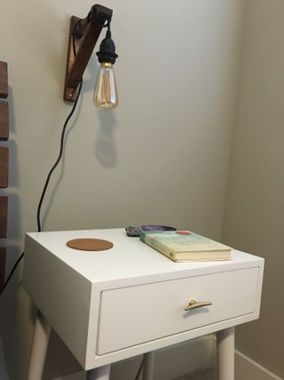
[[[118,105],[113,64],[102,62],[94,91],[94,104],[99,109],[115,109]]]

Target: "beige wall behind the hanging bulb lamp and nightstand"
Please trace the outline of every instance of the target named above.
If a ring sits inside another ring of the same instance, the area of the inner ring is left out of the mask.
[[[157,222],[218,239],[243,1],[102,4],[114,9],[120,107],[103,113],[92,106],[98,63],[91,59],[64,161],[43,204],[43,229]],[[69,17],[84,17],[91,5],[87,0],[1,3],[0,58],[9,64],[12,120],[7,271],[23,248],[24,233],[36,230],[37,202],[71,107],[62,101]],[[0,307],[0,377],[22,380],[35,311],[20,288],[19,271]],[[75,370],[55,336],[52,342],[46,376]],[[60,368],[52,355],[61,358]]]

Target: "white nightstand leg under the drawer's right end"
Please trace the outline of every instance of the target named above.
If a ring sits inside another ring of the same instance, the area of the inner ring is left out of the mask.
[[[218,380],[234,379],[234,327],[217,332]]]

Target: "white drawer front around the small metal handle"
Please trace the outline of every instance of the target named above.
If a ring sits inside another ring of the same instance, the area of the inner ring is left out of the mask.
[[[114,352],[256,310],[258,268],[101,293],[96,353]],[[212,305],[185,311],[190,300]]]

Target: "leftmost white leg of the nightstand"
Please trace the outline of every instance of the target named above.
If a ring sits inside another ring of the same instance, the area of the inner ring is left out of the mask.
[[[42,380],[43,366],[51,334],[51,325],[37,312],[32,352],[28,367],[28,380]]]

